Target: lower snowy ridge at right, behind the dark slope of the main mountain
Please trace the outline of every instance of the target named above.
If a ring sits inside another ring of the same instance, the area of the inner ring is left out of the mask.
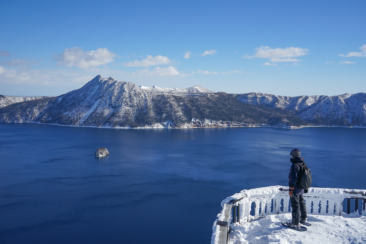
[[[346,93],[331,97],[285,97],[266,93],[231,95],[247,104],[292,110],[296,116],[314,125],[366,126],[366,93]]]

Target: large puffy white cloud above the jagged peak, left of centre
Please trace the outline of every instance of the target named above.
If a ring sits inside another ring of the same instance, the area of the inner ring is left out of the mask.
[[[55,59],[57,64],[65,67],[78,67],[87,69],[102,64],[108,64],[114,61],[115,57],[119,57],[115,53],[110,52],[107,48],[98,48],[97,50],[84,51],[82,48],[66,48]]]

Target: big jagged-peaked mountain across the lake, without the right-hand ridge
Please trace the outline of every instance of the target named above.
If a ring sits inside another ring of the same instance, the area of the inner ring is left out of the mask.
[[[199,86],[176,90],[180,92],[151,92],[98,75],[80,89],[58,97],[0,108],[0,122],[124,128],[308,125],[287,112],[257,108],[226,93],[205,94],[202,91],[209,90]]]

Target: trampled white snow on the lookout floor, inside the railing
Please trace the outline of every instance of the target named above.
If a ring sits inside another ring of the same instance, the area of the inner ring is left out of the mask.
[[[308,215],[312,226],[306,232],[285,228],[280,220],[290,221],[291,214],[267,215],[236,226],[230,233],[228,244],[361,244],[366,243],[366,217]]]

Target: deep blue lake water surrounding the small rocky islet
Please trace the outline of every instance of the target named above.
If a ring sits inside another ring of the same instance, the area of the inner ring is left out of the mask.
[[[366,187],[366,129],[102,129],[0,123],[0,243],[210,243],[221,201],[287,185]],[[94,152],[106,147],[109,155]]]

